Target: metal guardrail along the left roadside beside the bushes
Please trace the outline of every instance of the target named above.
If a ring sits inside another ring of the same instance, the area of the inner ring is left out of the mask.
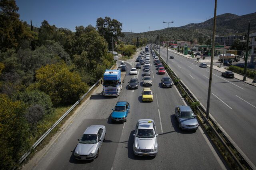
[[[110,68],[112,69],[115,66],[115,64]],[[62,117],[60,117],[60,119],[58,119],[58,121],[56,121],[56,123],[54,123],[54,125],[52,125],[52,127],[50,127],[28,150],[28,152],[26,152],[25,154],[22,155],[22,157],[20,158],[19,162],[23,162],[24,159],[26,159],[28,157],[28,155],[31,153],[31,151],[36,148],[36,146],[38,146],[38,144],[40,144],[42,142],[42,140],[44,140],[44,138],[46,138],[46,136],[68,115],[68,113],[70,113],[70,111],[72,111],[79,103],[80,101],[82,101],[82,99],[84,99],[84,97],[86,97],[86,95],[88,93],[90,93],[90,91],[100,82],[101,79],[99,79],[78,101],[76,101],[76,103],[70,107],[68,109],[68,111],[66,111],[66,113],[64,113],[64,115],[62,115]]]

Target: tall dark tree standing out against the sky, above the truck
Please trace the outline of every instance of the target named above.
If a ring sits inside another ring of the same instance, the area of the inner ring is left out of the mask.
[[[115,19],[111,20],[110,17],[105,17],[104,19],[101,17],[97,18],[96,28],[100,36],[104,37],[106,42],[108,42],[109,51],[112,49],[112,37],[114,37],[114,41],[118,41],[118,36],[124,37],[124,33],[122,33],[122,23]]]

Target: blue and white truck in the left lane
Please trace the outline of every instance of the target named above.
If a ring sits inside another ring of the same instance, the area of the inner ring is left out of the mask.
[[[105,70],[103,76],[103,95],[104,96],[119,96],[122,90],[122,83],[126,72],[120,70]]]

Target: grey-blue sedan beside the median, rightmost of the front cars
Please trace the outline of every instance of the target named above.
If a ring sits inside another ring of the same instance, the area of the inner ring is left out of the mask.
[[[176,106],[175,117],[178,121],[179,128],[182,130],[197,130],[198,121],[192,109],[189,106]]]

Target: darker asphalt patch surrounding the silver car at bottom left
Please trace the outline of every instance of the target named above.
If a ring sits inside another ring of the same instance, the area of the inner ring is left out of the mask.
[[[106,140],[102,143],[98,158],[95,160],[76,160],[74,150],[78,144],[78,139],[90,125],[104,125],[106,127]],[[72,136],[67,139],[63,146],[64,149],[58,152],[46,169],[111,169],[122,126],[122,124],[108,124],[106,119],[84,119]]]

